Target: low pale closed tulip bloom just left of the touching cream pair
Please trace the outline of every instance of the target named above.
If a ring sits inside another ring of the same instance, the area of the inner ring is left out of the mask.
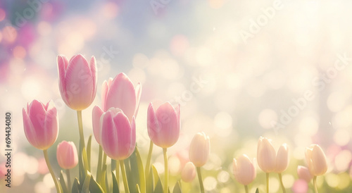
[[[245,154],[233,161],[234,178],[242,185],[249,185],[256,178],[256,167]]]

